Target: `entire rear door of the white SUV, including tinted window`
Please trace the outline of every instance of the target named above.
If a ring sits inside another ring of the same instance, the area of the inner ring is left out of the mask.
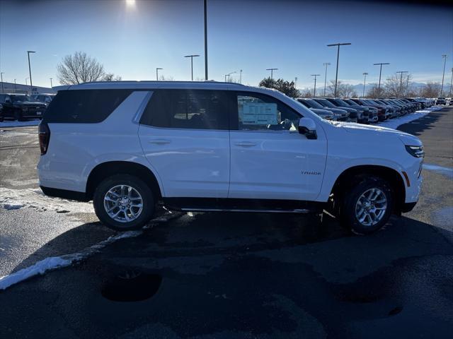
[[[139,138],[166,197],[228,196],[227,107],[219,90],[154,91]]]

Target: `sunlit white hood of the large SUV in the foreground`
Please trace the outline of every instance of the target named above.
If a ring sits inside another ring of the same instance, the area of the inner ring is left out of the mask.
[[[411,145],[411,146],[418,146],[422,145],[422,142],[416,136],[412,134],[405,133],[398,131],[396,129],[388,129],[386,127],[381,126],[370,126],[370,125],[363,125],[363,124],[351,124],[351,123],[344,123],[344,122],[334,122],[332,123],[334,126],[337,126],[348,133],[355,133],[355,134],[362,134],[362,135],[369,135],[372,133],[374,136],[379,136],[382,134],[383,136],[393,135],[399,138],[399,140],[404,145]]]

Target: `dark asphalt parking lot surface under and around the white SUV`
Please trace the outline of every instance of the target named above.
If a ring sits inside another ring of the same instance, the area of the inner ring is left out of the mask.
[[[242,213],[156,220],[0,292],[0,338],[451,338],[453,108],[398,129],[425,145],[423,191],[381,232],[358,237],[328,215],[321,225]],[[89,204],[36,190],[36,127],[0,130],[0,194],[11,197],[0,275],[116,235]]]

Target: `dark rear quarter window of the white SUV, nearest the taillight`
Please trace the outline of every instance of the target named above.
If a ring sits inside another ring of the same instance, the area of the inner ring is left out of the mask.
[[[44,114],[47,123],[96,124],[107,117],[132,90],[60,90]]]

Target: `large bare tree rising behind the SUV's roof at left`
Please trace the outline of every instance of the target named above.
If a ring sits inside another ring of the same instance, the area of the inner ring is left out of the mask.
[[[75,85],[100,81],[105,76],[104,67],[85,52],[75,52],[63,58],[57,66],[57,76],[62,85]]]

